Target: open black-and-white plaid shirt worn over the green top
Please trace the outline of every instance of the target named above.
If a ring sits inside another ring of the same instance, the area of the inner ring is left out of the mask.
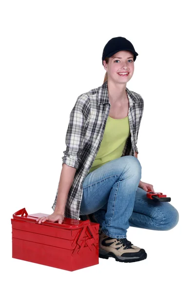
[[[143,114],[143,98],[126,87],[129,99],[130,135],[126,140],[122,156],[134,156],[137,151],[137,136]],[[62,165],[76,168],[75,177],[69,190],[64,216],[79,219],[82,200],[82,184],[98,153],[106,121],[109,116],[110,102],[108,98],[107,81],[98,88],[81,94],[70,113],[66,133],[66,150],[63,151]],[[59,189],[59,187],[58,187]],[[55,210],[58,196],[52,206]]]

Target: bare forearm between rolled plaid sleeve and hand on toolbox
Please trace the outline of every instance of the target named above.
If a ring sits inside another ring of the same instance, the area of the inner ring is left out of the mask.
[[[62,165],[55,212],[64,214],[68,193],[72,186],[76,170],[76,168],[67,166],[66,164]]]

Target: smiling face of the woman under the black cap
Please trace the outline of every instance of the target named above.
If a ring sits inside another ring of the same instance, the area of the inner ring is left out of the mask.
[[[115,83],[126,84],[134,73],[134,54],[130,51],[119,51],[109,58],[109,62],[103,61],[103,65],[108,74],[108,79]],[[127,72],[128,75],[120,73]]]

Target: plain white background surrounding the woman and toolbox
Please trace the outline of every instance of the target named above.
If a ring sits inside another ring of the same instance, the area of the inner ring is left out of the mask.
[[[2,292],[194,292],[194,26],[189,0],[0,2]],[[13,259],[12,214],[53,212],[70,112],[103,83],[103,47],[118,36],[139,54],[127,87],[144,99],[141,180],[172,198],[179,223],[129,228],[148,254],[137,263],[68,272]]]

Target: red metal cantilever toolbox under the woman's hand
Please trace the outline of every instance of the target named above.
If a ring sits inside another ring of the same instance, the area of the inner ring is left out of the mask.
[[[76,271],[99,263],[99,224],[64,218],[62,224],[36,219],[47,214],[13,214],[12,257],[37,264]]]

